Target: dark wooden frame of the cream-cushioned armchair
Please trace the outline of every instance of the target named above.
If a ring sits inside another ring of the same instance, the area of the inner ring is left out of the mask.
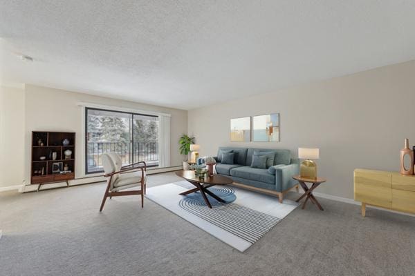
[[[144,166],[135,167],[138,164],[144,164]],[[124,173],[129,173],[129,172],[136,172],[138,170],[141,170],[141,190],[126,190],[123,192],[122,191],[111,192],[109,190],[109,188],[111,188],[111,181],[114,175],[124,174]],[[107,190],[105,190],[104,198],[102,199],[100,212],[102,212],[102,209],[104,208],[104,204],[105,204],[105,201],[107,201],[107,197],[111,199],[111,197],[121,197],[124,195],[141,195],[141,208],[143,208],[144,207],[144,195],[145,195],[146,186],[147,186],[145,184],[145,176],[144,176],[144,172],[146,171],[147,171],[147,165],[145,164],[145,161],[140,161],[140,162],[130,164],[127,166],[122,166],[121,170],[118,172],[111,172],[111,173],[104,175],[104,177],[109,177],[109,179],[107,180]]]

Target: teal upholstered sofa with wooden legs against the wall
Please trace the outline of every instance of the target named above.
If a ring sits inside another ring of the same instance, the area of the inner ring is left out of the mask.
[[[221,163],[223,150],[234,152],[234,164]],[[275,152],[273,166],[266,169],[251,168],[254,151]],[[284,193],[288,190],[298,189],[298,182],[293,176],[299,174],[299,159],[291,158],[290,150],[221,147],[214,159],[216,159],[216,172],[219,175],[231,177],[236,186],[278,195],[279,202],[282,202]],[[202,158],[197,160],[198,164],[203,162]]]

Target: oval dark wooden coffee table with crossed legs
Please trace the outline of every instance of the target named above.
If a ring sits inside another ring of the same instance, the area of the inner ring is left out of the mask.
[[[233,180],[230,177],[224,177],[223,175],[213,175],[212,177],[205,177],[204,179],[199,179],[199,177],[196,177],[194,175],[194,170],[181,170],[180,172],[176,172],[176,175],[179,177],[183,177],[190,183],[192,183],[196,188],[193,188],[192,190],[187,190],[183,193],[180,193],[179,195],[189,195],[191,193],[200,192],[203,199],[205,200],[206,205],[208,205],[209,208],[212,208],[212,205],[209,202],[208,197],[206,197],[206,194],[210,195],[217,201],[225,203],[223,199],[212,193],[210,190],[208,190],[209,187],[215,186],[215,185],[228,185],[232,184]]]

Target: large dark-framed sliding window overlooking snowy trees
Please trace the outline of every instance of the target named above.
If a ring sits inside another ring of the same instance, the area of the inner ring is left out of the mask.
[[[85,108],[85,172],[103,172],[102,154],[116,152],[123,165],[159,166],[159,117]]]

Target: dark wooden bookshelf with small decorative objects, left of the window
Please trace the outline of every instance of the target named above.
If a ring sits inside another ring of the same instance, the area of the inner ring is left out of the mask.
[[[64,146],[65,139],[69,143]],[[72,151],[70,157],[65,156],[65,150]],[[33,131],[30,175],[30,183],[39,185],[37,190],[43,184],[56,182],[66,182],[68,186],[68,180],[75,179],[75,132]]]

